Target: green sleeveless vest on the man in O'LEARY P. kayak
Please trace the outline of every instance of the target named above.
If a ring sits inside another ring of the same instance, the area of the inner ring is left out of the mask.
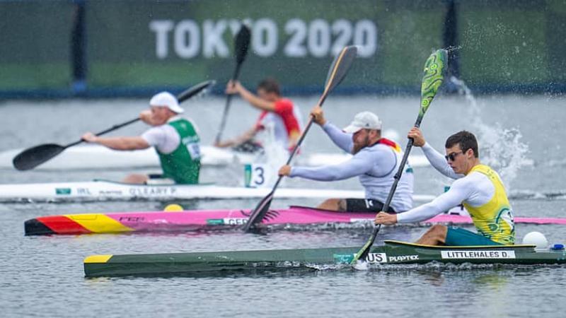
[[[200,137],[187,119],[176,119],[168,123],[178,132],[181,142],[172,153],[160,153],[159,161],[163,177],[175,180],[178,184],[199,183]]]

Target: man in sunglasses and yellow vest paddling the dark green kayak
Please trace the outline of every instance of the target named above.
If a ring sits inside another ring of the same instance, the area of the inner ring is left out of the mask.
[[[450,136],[446,140],[444,158],[424,141],[419,129],[411,129],[408,136],[414,140],[415,146],[422,147],[424,155],[436,170],[456,181],[448,192],[432,202],[398,215],[378,213],[375,223],[392,225],[419,222],[463,204],[478,233],[434,225],[417,243],[447,246],[514,244],[515,227],[511,204],[497,172],[480,163],[475,136],[468,131]]]

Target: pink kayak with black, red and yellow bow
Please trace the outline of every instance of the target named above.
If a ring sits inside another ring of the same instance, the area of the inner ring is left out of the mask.
[[[42,216],[25,221],[25,235],[90,234],[119,232],[187,231],[229,228],[243,225],[249,210],[200,210],[179,212],[128,212],[67,214]],[[371,225],[375,213],[325,211],[317,208],[291,206],[267,213],[263,225]],[[562,224],[566,218],[515,218],[516,223]],[[441,214],[426,224],[468,224],[468,216]]]

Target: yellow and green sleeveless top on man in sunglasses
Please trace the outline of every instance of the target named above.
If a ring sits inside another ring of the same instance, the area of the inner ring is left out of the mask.
[[[485,175],[495,187],[495,194],[493,194],[492,199],[487,204],[474,207],[463,203],[463,206],[470,213],[475,228],[478,229],[480,235],[494,242],[505,245],[514,244],[515,224],[513,211],[499,175],[487,165],[476,165],[468,174],[471,172],[480,172]]]

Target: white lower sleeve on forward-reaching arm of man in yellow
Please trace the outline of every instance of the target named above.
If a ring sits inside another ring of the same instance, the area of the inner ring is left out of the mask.
[[[433,216],[448,211],[454,206],[458,206],[472,196],[475,190],[474,180],[463,178],[456,180],[448,192],[444,192],[427,204],[412,208],[411,210],[397,214],[397,223],[414,223],[428,220]]]

